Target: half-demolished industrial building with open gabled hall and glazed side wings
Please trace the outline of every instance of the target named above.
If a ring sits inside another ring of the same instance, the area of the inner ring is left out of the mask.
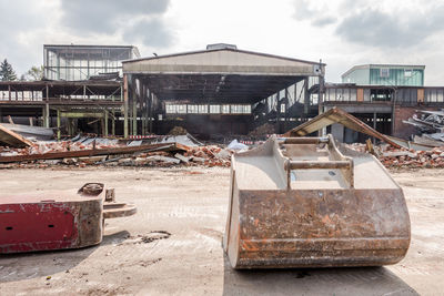
[[[280,134],[337,106],[407,140],[421,134],[406,123],[413,114],[444,108],[444,86],[424,86],[423,65],[360,65],[343,83],[324,83],[322,62],[224,43],[148,58],[134,47],[43,49],[43,81],[0,82],[0,122],[12,116],[51,127],[58,139],[79,132],[143,139],[174,126],[206,140]],[[339,124],[327,132],[347,143],[366,140]]]

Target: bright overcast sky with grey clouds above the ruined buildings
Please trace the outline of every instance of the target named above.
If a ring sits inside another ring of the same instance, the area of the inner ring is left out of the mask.
[[[334,3],[332,3],[334,2]],[[0,0],[0,59],[19,74],[42,44],[134,44],[142,57],[234,43],[319,61],[340,82],[354,64],[425,64],[444,85],[442,0]]]

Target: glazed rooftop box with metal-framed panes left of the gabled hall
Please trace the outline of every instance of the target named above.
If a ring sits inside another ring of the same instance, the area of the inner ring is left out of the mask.
[[[137,58],[135,47],[43,45],[44,78],[78,81],[112,72],[122,76],[121,61]]]

